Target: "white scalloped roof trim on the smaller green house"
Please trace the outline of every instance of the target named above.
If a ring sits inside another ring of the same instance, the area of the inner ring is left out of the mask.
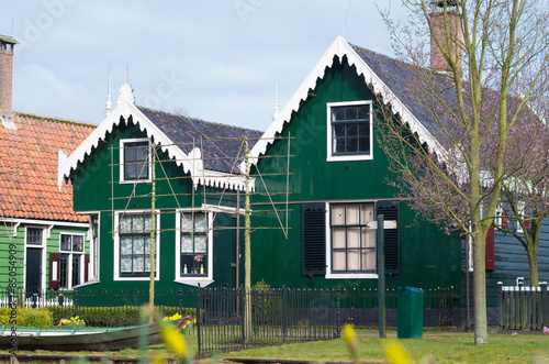
[[[107,137],[107,133],[112,132],[114,126],[121,122],[126,123],[130,117],[132,117],[133,122],[135,124],[138,123],[142,131],[146,130],[148,137],[154,137],[155,142],[160,144],[161,150],[168,153],[169,157],[173,158],[176,164],[183,168],[184,173],[191,174],[194,188],[203,185],[245,190],[244,176],[204,169],[199,148],[192,150],[187,155],[131,101],[127,97],[119,98],[119,104],[111,114],[59,165],[57,169],[59,189],[61,188],[64,178],[70,175],[70,170],[76,170],[78,163],[82,163],[87,156],[91,155],[92,148],[97,147],[100,141]]]

